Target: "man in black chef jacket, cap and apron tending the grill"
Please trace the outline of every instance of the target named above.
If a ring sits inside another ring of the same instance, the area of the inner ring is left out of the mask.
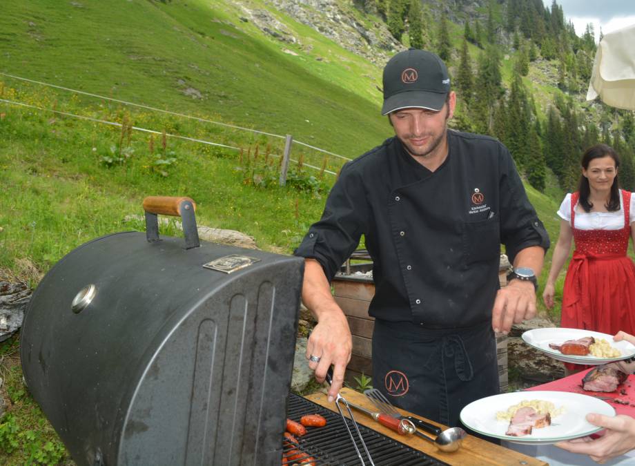
[[[549,237],[505,146],[447,129],[456,95],[443,61],[411,49],[384,68],[395,137],[347,163],[296,255],[317,325],[307,345],[335,397],[351,332],[329,282],[363,234],[373,258],[373,386],[394,405],[458,425],[473,400],[498,394],[495,331],[534,317]],[[500,244],[514,264],[498,286]]]

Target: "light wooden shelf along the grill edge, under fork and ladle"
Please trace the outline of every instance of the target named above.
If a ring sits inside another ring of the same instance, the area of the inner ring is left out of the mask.
[[[347,401],[374,411],[373,404],[366,398],[366,396],[364,396],[364,394],[360,394],[360,392],[358,391],[347,388],[342,389],[342,391],[340,391],[340,394]],[[321,392],[308,395],[304,398],[306,398],[307,400],[311,400],[314,403],[317,403],[317,405],[321,405],[326,409],[331,409],[331,411],[338,412],[338,408],[335,406],[335,402],[329,403],[326,395],[322,394]],[[404,416],[412,415],[412,413],[404,411],[403,409],[399,409],[399,411],[404,414]],[[422,416],[417,417],[425,419]],[[514,452],[513,450],[500,447],[499,445],[494,445],[494,443],[489,443],[486,440],[482,440],[471,435],[463,439],[463,443],[460,449],[458,449],[456,452],[445,453],[440,452],[440,450],[436,449],[436,447],[432,443],[428,443],[422,438],[418,438],[417,436],[400,436],[395,431],[392,431],[391,429],[384,427],[380,423],[375,422],[375,420],[371,419],[369,416],[364,416],[364,414],[360,414],[359,416],[355,415],[355,420],[357,420],[358,423],[369,427],[370,429],[378,431],[385,436],[398,440],[399,442],[404,443],[405,445],[408,445],[413,449],[424,452],[425,454],[433,456],[433,458],[437,458],[450,465],[547,466],[547,463],[545,463],[544,461],[537,460],[536,458],[531,458],[531,456],[523,455],[518,452]],[[439,423],[433,424],[439,425],[442,429],[447,429],[447,426],[441,425]]]

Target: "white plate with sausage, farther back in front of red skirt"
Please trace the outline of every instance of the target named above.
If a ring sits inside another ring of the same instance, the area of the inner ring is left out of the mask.
[[[549,343],[563,344],[567,340],[578,340],[578,338],[584,338],[586,336],[607,340],[612,347],[620,350],[622,355],[617,358],[597,358],[591,354],[588,354],[587,356],[572,356],[560,353],[560,351],[556,349],[549,348]],[[635,356],[635,346],[632,343],[629,343],[626,340],[622,340],[620,342],[613,341],[612,335],[607,335],[607,333],[600,333],[598,331],[558,328],[534,329],[522,333],[522,340],[525,340],[525,343],[538,349],[538,351],[543,351],[543,353],[551,356],[551,358],[564,362],[573,362],[574,364],[606,364],[607,362],[619,361]]]

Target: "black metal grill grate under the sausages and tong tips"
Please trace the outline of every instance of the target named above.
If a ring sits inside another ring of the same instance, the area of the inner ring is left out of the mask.
[[[360,458],[355,452],[346,427],[342,424],[340,414],[326,409],[314,402],[306,400],[296,394],[289,394],[289,408],[287,417],[300,422],[300,418],[305,414],[320,414],[326,418],[324,427],[307,427],[306,435],[297,438],[300,445],[290,446],[288,443],[284,447],[282,454],[282,465],[293,465],[295,463],[309,462],[309,457],[313,459],[309,465],[361,465]],[[355,413],[355,417],[358,413]],[[364,414],[359,413],[359,416]],[[351,420],[346,422],[353,428]],[[360,431],[364,437],[364,442],[369,449],[375,465],[447,465],[442,461],[432,458],[416,449],[408,447],[403,443],[384,436],[379,432],[360,425]],[[358,442],[360,452],[364,449]],[[366,458],[364,458],[366,462]]]

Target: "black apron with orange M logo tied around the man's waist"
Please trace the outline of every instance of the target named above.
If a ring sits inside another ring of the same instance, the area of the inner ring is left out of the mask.
[[[458,426],[463,407],[498,394],[497,361],[491,322],[424,329],[375,320],[373,387],[393,405],[438,423]]]

